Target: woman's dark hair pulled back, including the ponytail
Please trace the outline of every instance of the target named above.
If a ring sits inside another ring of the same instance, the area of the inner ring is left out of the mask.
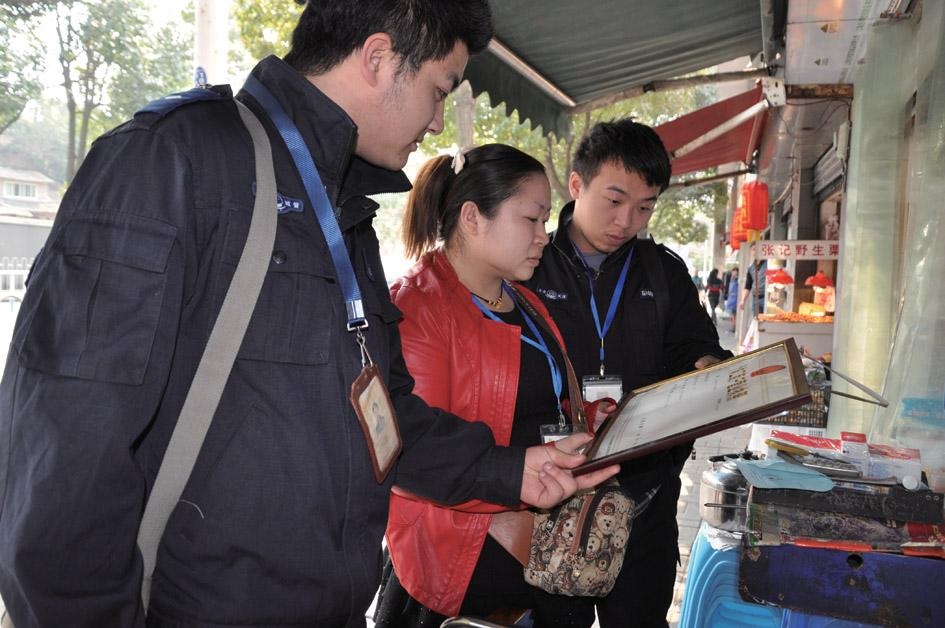
[[[403,238],[408,257],[420,257],[449,242],[459,223],[463,203],[472,201],[486,218],[494,218],[502,201],[515,195],[522,180],[545,174],[540,161],[505,144],[485,144],[466,151],[459,174],[453,157],[428,160],[417,173],[404,212]]]

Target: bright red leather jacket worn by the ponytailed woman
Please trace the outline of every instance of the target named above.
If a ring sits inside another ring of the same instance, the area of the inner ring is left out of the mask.
[[[538,297],[521,292],[562,342]],[[518,396],[521,330],[484,317],[440,251],[424,255],[394,283],[391,295],[404,313],[404,358],[417,380],[416,393],[431,406],[482,421],[497,443],[507,444]],[[458,613],[491,513],[505,510],[482,501],[444,508],[395,487],[387,544],[400,583],[437,613]]]

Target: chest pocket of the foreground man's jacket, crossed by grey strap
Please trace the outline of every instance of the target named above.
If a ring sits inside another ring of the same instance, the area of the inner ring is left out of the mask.
[[[231,211],[223,255],[224,289],[246,242],[251,214]],[[280,220],[253,316],[237,358],[284,364],[324,364],[335,308],[342,307],[331,260],[291,221]]]

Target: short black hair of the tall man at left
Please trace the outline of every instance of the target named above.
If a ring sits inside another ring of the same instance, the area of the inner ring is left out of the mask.
[[[338,65],[374,33],[390,35],[401,70],[416,72],[466,44],[469,54],[492,39],[488,0],[309,0],[285,61],[317,75]]]

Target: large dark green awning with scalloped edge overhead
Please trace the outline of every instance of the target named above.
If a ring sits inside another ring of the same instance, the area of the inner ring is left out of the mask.
[[[503,0],[466,77],[546,132],[574,106],[762,48],[758,0]]]

